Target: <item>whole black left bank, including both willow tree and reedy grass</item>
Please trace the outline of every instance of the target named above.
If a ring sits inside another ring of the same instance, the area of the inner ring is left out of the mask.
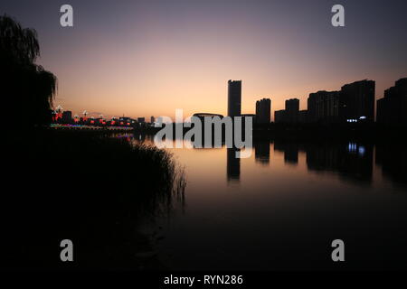
[[[138,228],[183,200],[184,171],[155,146],[46,129],[57,78],[35,64],[39,55],[37,33],[0,16],[0,92],[13,120],[3,132],[0,267],[144,268],[137,256],[151,247]],[[63,239],[74,262],[60,258]]]

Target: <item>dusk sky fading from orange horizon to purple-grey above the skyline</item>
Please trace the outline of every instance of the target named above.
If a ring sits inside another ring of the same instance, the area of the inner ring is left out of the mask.
[[[70,4],[74,27],[62,28]],[[331,25],[345,6],[345,27]],[[56,105],[95,115],[185,117],[227,111],[242,80],[242,113],[271,98],[307,108],[310,92],[376,81],[376,98],[407,77],[407,1],[2,1],[39,33],[38,63],[59,79]]]

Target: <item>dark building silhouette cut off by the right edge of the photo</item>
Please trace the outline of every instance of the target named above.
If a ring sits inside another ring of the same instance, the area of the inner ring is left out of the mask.
[[[407,78],[395,81],[377,100],[377,118],[381,124],[407,125]]]

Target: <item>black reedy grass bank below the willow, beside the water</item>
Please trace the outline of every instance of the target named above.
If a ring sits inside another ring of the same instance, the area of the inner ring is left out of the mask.
[[[10,255],[2,266],[144,267],[140,253],[151,248],[138,226],[170,214],[184,198],[183,170],[155,146],[40,130],[14,135],[7,147],[11,190],[2,194],[2,222]],[[64,238],[75,246],[71,264],[59,258]]]

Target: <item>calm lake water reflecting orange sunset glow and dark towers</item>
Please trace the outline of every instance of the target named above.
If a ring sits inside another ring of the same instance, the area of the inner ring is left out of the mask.
[[[185,166],[187,185],[185,203],[149,228],[161,236],[156,247],[166,266],[407,267],[405,146],[352,141],[253,146],[247,159],[236,159],[225,147],[169,149]],[[332,262],[336,238],[345,242],[345,263]]]

